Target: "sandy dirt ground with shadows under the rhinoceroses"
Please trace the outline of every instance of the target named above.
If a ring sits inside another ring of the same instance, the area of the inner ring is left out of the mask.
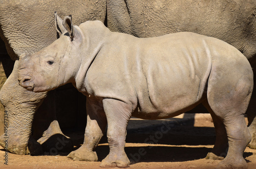
[[[81,146],[82,132],[66,132]],[[214,125],[209,114],[185,114],[164,120],[130,120],[125,152],[132,161],[130,168],[216,168],[220,160],[206,160],[215,142]],[[99,161],[109,153],[106,136],[96,148]],[[68,153],[55,156],[29,156],[8,153],[4,164],[4,149],[0,149],[0,168],[99,168],[100,162],[73,161]],[[244,158],[248,168],[256,168],[256,150],[246,148]]]

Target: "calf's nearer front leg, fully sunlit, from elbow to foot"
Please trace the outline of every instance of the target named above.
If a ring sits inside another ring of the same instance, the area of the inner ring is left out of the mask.
[[[126,129],[132,115],[132,107],[115,99],[104,99],[103,107],[108,119],[108,142],[110,153],[101,167],[127,167],[130,160],[124,152]]]

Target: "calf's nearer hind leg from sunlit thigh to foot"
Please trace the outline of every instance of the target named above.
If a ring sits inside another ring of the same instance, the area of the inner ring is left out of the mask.
[[[227,65],[222,66],[225,74],[220,76],[218,74],[220,67],[212,66],[207,88],[208,104],[225,126],[228,138],[227,155],[219,163],[218,168],[247,168],[243,153],[251,141],[251,135],[244,114],[253,88],[249,72],[251,70],[243,69],[246,66],[241,66],[238,70],[232,68],[229,70],[226,69],[227,67]]]

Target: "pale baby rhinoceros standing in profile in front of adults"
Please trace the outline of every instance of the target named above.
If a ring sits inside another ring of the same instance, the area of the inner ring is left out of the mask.
[[[111,32],[100,21],[73,26],[71,16],[61,20],[55,15],[55,23],[62,35],[45,49],[20,57],[18,80],[34,92],[73,83],[87,95],[84,142],[68,157],[98,160],[94,148],[108,124],[110,153],[100,166],[126,167],[131,116],[168,118],[203,103],[217,131],[212,154],[225,152],[228,141],[228,153],[218,167],[247,167],[243,152],[251,136],[244,113],[253,73],[233,46],[189,32],[136,38]]]

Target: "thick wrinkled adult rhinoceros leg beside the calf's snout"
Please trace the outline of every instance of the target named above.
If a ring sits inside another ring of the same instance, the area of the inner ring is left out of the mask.
[[[19,86],[17,81],[18,61],[0,91],[0,99],[8,114],[8,130],[0,136],[0,145],[5,147],[8,138],[8,151],[15,154],[38,155],[41,146],[30,138],[34,112],[41,105],[47,93],[34,93]],[[30,140],[30,141],[29,141]],[[29,147],[27,149],[29,142]]]

